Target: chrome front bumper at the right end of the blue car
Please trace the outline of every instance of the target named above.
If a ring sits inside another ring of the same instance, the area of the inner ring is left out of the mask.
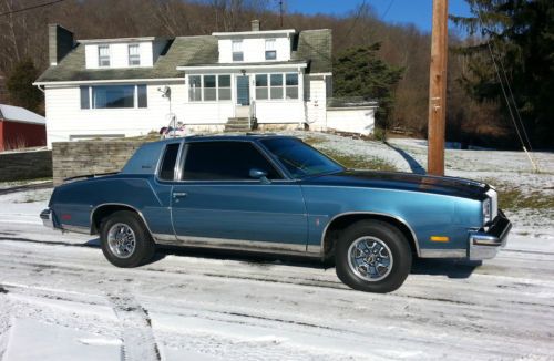
[[[480,229],[470,233],[468,247],[470,260],[490,259],[496,256],[499,249],[506,245],[510,229],[512,229],[512,223],[499,209],[499,215],[488,230]]]

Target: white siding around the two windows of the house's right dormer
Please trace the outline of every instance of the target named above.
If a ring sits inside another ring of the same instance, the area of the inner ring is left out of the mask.
[[[219,62],[232,63],[233,40],[240,38],[219,39]],[[275,50],[277,51],[277,59],[273,61],[288,61],[290,60],[290,39],[287,35],[278,37],[256,37],[243,39],[243,53],[244,62],[264,62],[266,61],[266,39],[275,39]],[[269,62],[269,61],[268,61]]]

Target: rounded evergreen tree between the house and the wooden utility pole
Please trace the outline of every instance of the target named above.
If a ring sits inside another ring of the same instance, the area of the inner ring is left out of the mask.
[[[394,89],[402,79],[403,69],[379,59],[380,43],[358,47],[338,54],[334,61],[334,95],[361,96],[376,100],[377,125],[387,127],[394,105]]]

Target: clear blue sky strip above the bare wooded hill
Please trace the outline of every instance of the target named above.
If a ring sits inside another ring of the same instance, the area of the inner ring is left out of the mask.
[[[362,0],[284,0],[284,3],[289,12],[345,16]],[[423,31],[431,31],[432,0],[366,0],[366,3],[373,7],[380,18],[390,6],[383,19],[386,22],[413,23]],[[464,0],[449,0],[449,13],[469,16],[469,6]]]

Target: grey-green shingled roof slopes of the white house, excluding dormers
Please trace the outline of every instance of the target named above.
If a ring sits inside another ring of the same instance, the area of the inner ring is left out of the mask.
[[[177,66],[217,65],[218,59],[217,37],[177,37],[168,41],[152,68],[86,69],[84,44],[78,43],[35,83],[183,78],[183,71]],[[305,30],[297,34],[291,61],[306,61],[311,73],[331,72],[331,30]]]

